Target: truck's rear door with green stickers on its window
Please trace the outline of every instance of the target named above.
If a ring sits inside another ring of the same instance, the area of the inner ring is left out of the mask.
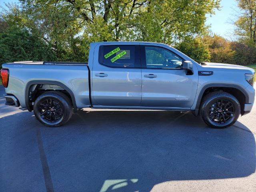
[[[94,107],[140,106],[139,45],[101,45],[96,50],[98,58],[94,57],[92,69]]]

